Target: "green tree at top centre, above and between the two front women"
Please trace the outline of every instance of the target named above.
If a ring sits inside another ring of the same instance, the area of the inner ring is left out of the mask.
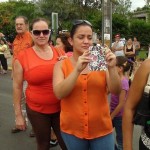
[[[39,0],[38,5],[44,16],[51,18],[52,12],[58,13],[62,27],[69,29],[72,20],[87,19],[88,16],[99,13],[99,10],[94,8],[97,2],[98,0],[55,0],[54,3],[53,0]]]

